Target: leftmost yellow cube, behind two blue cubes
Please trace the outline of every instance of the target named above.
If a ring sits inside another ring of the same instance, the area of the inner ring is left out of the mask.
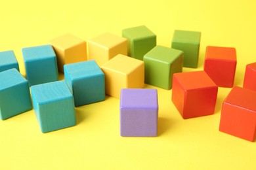
[[[87,44],[71,34],[62,35],[50,41],[56,53],[58,71],[63,73],[63,66],[87,60]]]

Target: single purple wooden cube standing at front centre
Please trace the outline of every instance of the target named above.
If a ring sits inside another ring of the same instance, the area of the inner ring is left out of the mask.
[[[158,91],[156,89],[121,89],[120,135],[123,137],[158,135]]]

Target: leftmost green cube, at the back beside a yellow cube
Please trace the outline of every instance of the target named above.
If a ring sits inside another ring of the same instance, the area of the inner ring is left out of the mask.
[[[146,26],[123,29],[122,36],[128,39],[128,56],[143,61],[143,56],[156,46],[156,35]]]

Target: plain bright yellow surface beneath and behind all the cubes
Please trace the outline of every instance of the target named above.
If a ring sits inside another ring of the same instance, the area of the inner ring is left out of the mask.
[[[88,40],[146,25],[158,44],[171,46],[175,29],[201,31],[199,67],[183,71],[203,69],[207,45],[235,47],[234,84],[242,86],[245,65],[256,59],[255,7],[252,0],[2,1],[0,50],[14,50],[25,75],[21,48],[65,33]],[[171,90],[157,89],[158,137],[120,137],[114,97],[77,107],[77,126],[45,134],[31,110],[0,121],[0,169],[256,169],[256,143],[218,130],[230,88],[219,88],[215,114],[188,120]]]

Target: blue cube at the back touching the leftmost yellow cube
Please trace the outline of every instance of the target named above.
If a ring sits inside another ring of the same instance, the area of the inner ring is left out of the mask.
[[[56,54],[53,46],[22,48],[22,54],[30,86],[58,80]]]

